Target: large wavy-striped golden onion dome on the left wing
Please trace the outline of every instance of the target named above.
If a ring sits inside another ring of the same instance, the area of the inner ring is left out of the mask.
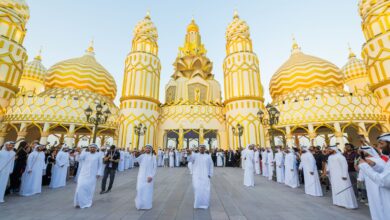
[[[84,56],[53,65],[46,74],[45,88],[89,90],[111,100],[117,91],[112,75],[96,61],[92,43]]]

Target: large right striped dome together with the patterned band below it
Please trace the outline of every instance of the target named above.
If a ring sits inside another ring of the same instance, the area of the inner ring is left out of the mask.
[[[280,110],[279,124],[384,119],[374,96],[352,94],[343,87],[336,65],[302,53],[294,42],[291,57],[270,83],[273,103]]]

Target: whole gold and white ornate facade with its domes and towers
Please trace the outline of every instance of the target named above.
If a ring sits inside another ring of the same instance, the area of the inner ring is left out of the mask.
[[[214,78],[200,28],[192,19],[174,60],[174,72],[160,102],[161,64],[158,32],[149,14],[134,28],[125,59],[120,106],[111,74],[96,60],[93,43],[81,57],[60,61],[49,69],[39,53],[26,63],[23,48],[29,9],[24,0],[0,2],[0,144],[5,140],[39,139],[49,135],[68,145],[90,142],[93,124],[85,109],[100,103],[111,114],[96,131],[100,144],[119,147],[237,149],[247,144],[319,143],[341,147],[359,135],[375,142],[390,131],[390,46],[387,22],[390,2],[362,0],[359,11],[367,42],[360,60],[350,51],[340,69],[302,52],[293,42],[291,55],[269,84],[279,122],[262,125],[265,111],[259,58],[249,26],[237,12],[226,29],[223,89]],[[387,19],[387,20],[386,20]],[[269,116],[265,115],[267,119]],[[242,127],[241,133],[237,132]]]

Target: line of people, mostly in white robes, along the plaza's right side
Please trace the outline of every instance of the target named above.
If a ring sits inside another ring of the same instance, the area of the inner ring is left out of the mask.
[[[372,219],[390,219],[390,133],[379,136],[377,146],[364,137],[360,141],[359,147],[346,144],[344,152],[337,146],[277,146],[273,152],[248,145],[241,151],[243,184],[254,187],[257,174],[291,188],[304,185],[311,196],[331,190],[336,206],[356,209],[360,200],[369,206]]]

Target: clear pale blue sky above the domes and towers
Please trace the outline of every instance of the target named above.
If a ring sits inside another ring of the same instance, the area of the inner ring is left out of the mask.
[[[150,10],[159,34],[160,100],[173,73],[172,63],[194,16],[202,41],[222,86],[225,31],[234,9],[250,26],[260,60],[265,98],[272,74],[289,57],[294,34],[302,50],[340,68],[347,62],[348,43],[358,56],[364,37],[357,0],[27,0],[31,17],[24,45],[31,60],[43,47],[43,64],[84,54],[95,41],[97,60],[114,76],[121,96],[124,60],[133,29]]]

